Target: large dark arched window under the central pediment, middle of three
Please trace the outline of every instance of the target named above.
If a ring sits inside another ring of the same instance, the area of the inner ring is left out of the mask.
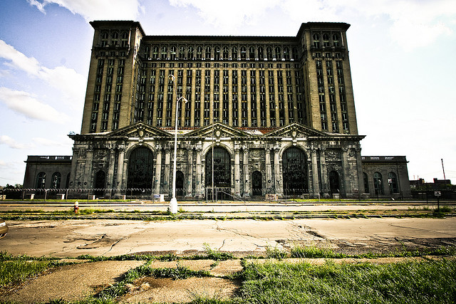
[[[212,149],[206,154],[206,187],[212,186]],[[231,157],[222,147],[214,147],[214,187],[231,187]]]

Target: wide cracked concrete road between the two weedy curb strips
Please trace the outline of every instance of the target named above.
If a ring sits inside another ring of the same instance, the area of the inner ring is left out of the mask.
[[[456,218],[254,220],[66,220],[7,221],[0,250],[29,256],[117,256],[140,252],[220,251],[264,253],[267,247],[338,241],[388,246],[414,239],[456,240]]]

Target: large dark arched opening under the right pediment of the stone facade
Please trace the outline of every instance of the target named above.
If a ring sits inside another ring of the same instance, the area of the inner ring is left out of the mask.
[[[307,157],[301,149],[290,147],[285,150],[282,157],[282,169],[285,195],[309,192],[307,187]]]

